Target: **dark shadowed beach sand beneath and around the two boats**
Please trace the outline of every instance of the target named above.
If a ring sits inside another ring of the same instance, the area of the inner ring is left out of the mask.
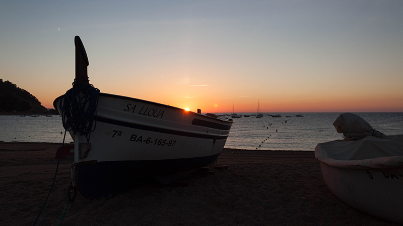
[[[49,192],[61,144],[0,142],[0,222],[33,225]],[[36,225],[56,225],[70,184],[71,160]],[[106,200],[81,196],[61,225],[392,225],[335,197],[312,151],[225,149],[212,173],[169,184],[144,182]]]

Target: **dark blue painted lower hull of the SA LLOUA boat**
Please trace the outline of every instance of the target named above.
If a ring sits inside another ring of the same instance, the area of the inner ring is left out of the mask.
[[[139,185],[142,178],[198,169],[214,162],[219,155],[170,160],[83,162],[77,165],[75,181],[83,196],[104,199]]]

